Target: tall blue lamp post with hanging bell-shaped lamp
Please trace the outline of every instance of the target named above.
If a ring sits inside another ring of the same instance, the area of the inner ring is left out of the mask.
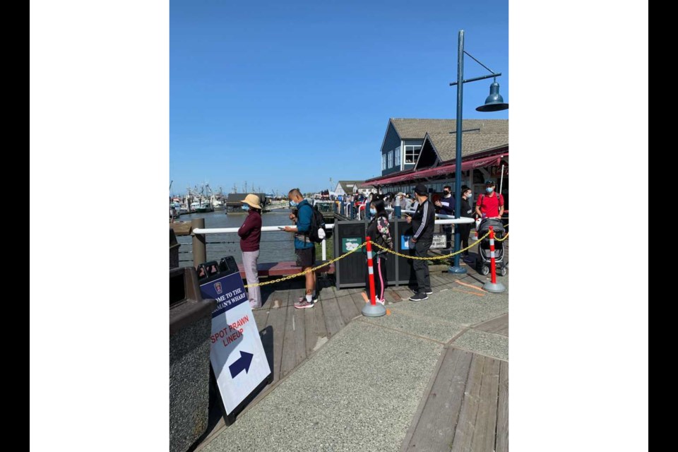
[[[478,112],[499,112],[509,108],[509,104],[504,103],[504,99],[499,95],[499,83],[496,83],[496,78],[501,76],[501,73],[495,73],[492,69],[482,64],[475,59],[471,54],[464,50],[464,30],[459,30],[459,46],[457,55],[457,81],[450,83],[450,86],[457,85],[457,119],[456,119],[456,159],[454,168],[454,218],[461,218],[461,134],[463,132],[462,121],[462,106],[464,100],[464,83],[484,80],[486,78],[494,78],[494,82],[490,85],[489,96],[485,100],[485,104],[477,107]],[[467,54],[480,66],[487,69],[492,74],[489,76],[480,76],[464,80],[464,54]],[[461,249],[461,236],[459,234],[458,225],[454,228],[454,251]],[[454,255],[453,266],[448,268],[449,273],[466,273],[466,269],[459,265],[459,254]]]

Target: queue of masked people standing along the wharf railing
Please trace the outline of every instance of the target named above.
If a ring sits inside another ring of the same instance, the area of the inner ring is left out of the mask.
[[[461,187],[461,212],[460,216],[465,218],[501,218],[504,215],[504,196],[496,193],[495,184],[488,180],[485,182],[485,193],[478,196],[475,206],[472,207],[472,190],[469,186]],[[287,194],[290,206],[295,210],[290,213],[290,220],[293,225],[285,226],[281,229],[285,232],[295,234],[295,255],[297,266],[302,268],[305,274],[305,295],[299,297],[295,302],[295,308],[308,309],[314,307],[318,302],[316,292],[316,273],[311,271],[316,264],[316,249],[314,242],[309,239],[311,224],[313,222],[313,207],[307,201],[299,189],[292,189]],[[354,196],[345,196],[346,203],[357,202]],[[261,204],[258,196],[248,194],[243,203],[243,210],[247,211],[247,216],[238,230],[240,237],[240,249],[242,253],[242,263],[245,270],[245,277],[248,285],[254,287],[248,290],[248,298],[251,307],[261,307],[261,290],[258,284],[257,262],[259,256],[259,246],[261,242]],[[417,184],[413,196],[410,194],[398,193],[381,196],[371,194],[363,197],[359,203],[364,206],[365,215],[369,213],[370,221],[367,224],[366,234],[371,240],[379,244],[380,247],[374,249],[374,282],[376,290],[376,301],[384,303],[384,291],[388,285],[386,277],[386,268],[388,263],[387,251],[393,249],[393,237],[391,237],[389,210],[393,211],[395,206],[400,206],[402,210],[414,210],[411,215],[405,213],[405,220],[411,225],[409,232],[410,253],[412,256],[424,258],[428,255],[433,242],[434,224],[436,208],[444,215],[454,215],[455,199],[451,194],[451,187],[445,186],[443,196],[434,203],[429,200],[429,191],[424,184]],[[367,207],[369,206],[369,207]],[[468,240],[472,223],[457,225],[462,248],[468,248]],[[446,233],[446,245],[451,249],[451,228],[444,228]],[[463,256],[468,256],[468,251],[464,251]],[[417,285],[414,294],[410,297],[412,302],[420,302],[428,299],[432,294],[432,285],[429,275],[429,268],[424,259],[412,259],[412,268],[415,271]],[[366,289],[369,293],[369,278],[366,273]]]

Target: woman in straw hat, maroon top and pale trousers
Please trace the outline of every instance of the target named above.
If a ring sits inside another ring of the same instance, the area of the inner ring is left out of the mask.
[[[238,230],[242,265],[245,268],[247,284],[258,284],[259,273],[256,263],[259,258],[259,242],[261,242],[261,205],[259,204],[259,197],[254,194],[245,196],[241,202],[242,210],[248,212],[247,218]],[[261,307],[261,289],[258,286],[250,287],[247,291],[247,297],[251,307]]]

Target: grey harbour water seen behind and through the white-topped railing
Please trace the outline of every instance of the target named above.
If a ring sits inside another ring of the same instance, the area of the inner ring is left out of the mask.
[[[292,225],[290,221],[290,210],[280,210],[278,212],[268,212],[261,214],[261,222],[264,226],[285,226]],[[211,213],[192,213],[191,215],[182,215],[180,221],[191,221],[193,218],[205,218],[205,227],[240,227],[247,215],[230,213],[225,215],[224,210],[218,210]],[[182,244],[179,247],[179,265],[193,265],[193,254],[191,249],[192,237],[177,237],[177,241]],[[207,242],[207,260],[219,261],[225,256],[234,256],[238,263],[242,262],[240,255],[240,237],[233,232],[232,234],[208,234]],[[218,243],[215,243],[218,242]],[[290,232],[262,232],[261,244],[259,246],[259,263],[281,262],[295,260],[295,239],[294,234]]]

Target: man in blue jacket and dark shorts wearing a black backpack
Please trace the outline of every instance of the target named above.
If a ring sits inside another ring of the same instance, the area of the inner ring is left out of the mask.
[[[318,242],[324,239],[324,222],[319,223],[316,212],[322,215],[317,209],[314,209],[309,201],[304,199],[299,189],[292,189],[287,194],[290,200],[290,206],[297,209],[297,215],[290,214],[290,219],[297,223],[296,226],[285,226],[284,230],[295,233],[295,254],[297,255],[297,266],[307,271],[316,264],[316,246]],[[319,234],[319,231],[323,231]],[[323,237],[320,237],[323,235]],[[316,272],[308,271],[306,273],[306,295],[299,297],[295,302],[295,308],[312,308],[314,303],[318,302],[316,295]]]

